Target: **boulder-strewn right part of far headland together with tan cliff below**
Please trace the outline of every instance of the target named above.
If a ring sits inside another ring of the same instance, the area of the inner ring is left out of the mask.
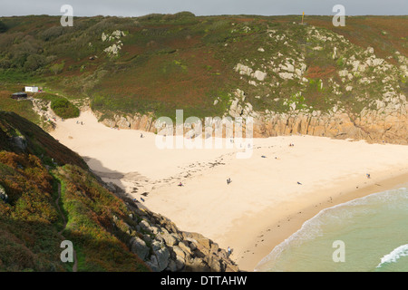
[[[268,40],[230,67],[239,81],[219,117],[252,117],[254,137],[300,133],[407,144],[408,59],[398,51],[378,57],[371,46],[315,26],[302,28],[300,43],[297,26],[267,30]],[[157,131],[153,115],[117,113],[103,122]]]

